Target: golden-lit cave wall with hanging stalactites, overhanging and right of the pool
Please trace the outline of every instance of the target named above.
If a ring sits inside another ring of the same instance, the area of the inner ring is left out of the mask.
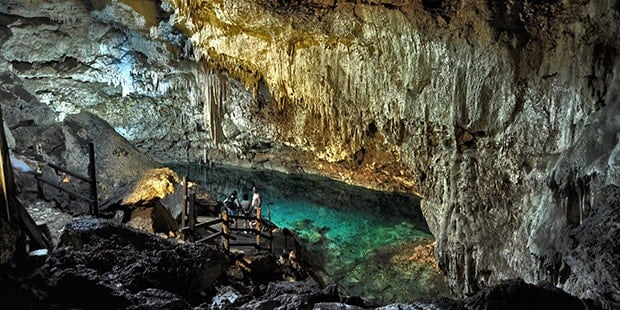
[[[523,277],[617,305],[614,1],[173,3],[199,58],[269,88],[280,141],[412,172],[455,292]]]

